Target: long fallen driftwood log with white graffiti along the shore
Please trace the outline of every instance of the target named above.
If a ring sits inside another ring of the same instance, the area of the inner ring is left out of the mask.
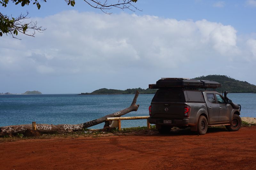
[[[49,125],[49,124],[36,124],[36,130],[41,134],[44,133],[69,133],[73,131],[82,130],[83,128],[89,128],[91,126],[100,124],[105,122],[106,118],[109,117],[120,117],[126,113],[137,111],[139,108],[139,104],[136,104],[137,98],[139,96],[139,92],[136,91],[135,96],[133,98],[132,104],[130,107],[123,109],[121,111],[106,115],[102,118],[91,120],[85,123],[71,125],[71,124],[60,124],[60,125]],[[105,124],[108,125],[109,123]],[[0,127],[0,136],[4,135],[16,135],[18,133],[24,134],[26,130],[32,130],[32,123],[26,125],[11,125]]]

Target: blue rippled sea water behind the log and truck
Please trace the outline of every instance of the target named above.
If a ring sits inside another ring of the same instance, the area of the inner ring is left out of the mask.
[[[125,116],[148,116],[153,94],[139,95],[137,112]],[[78,124],[98,119],[131,105],[134,95],[0,95],[0,127],[30,124]],[[242,117],[256,117],[256,94],[230,93],[228,97],[242,105]],[[104,123],[91,128],[103,128]],[[124,120],[122,128],[147,126],[146,120]]]

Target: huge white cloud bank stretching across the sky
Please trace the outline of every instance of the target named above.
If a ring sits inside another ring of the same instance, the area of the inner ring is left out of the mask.
[[[179,63],[205,54],[232,58],[240,53],[234,27],[207,20],[76,11],[37,20],[47,30],[32,39],[6,39],[18,41],[22,48],[11,53],[3,48],[6,53],[0,65],[24,64],[39,73],[61,74],[113,71],[132,65],[177,68]]]

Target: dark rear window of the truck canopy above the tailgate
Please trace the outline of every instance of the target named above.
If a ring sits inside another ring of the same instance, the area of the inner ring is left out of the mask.
[[[152,102],[185,102],[182,90],[157,90]]]

